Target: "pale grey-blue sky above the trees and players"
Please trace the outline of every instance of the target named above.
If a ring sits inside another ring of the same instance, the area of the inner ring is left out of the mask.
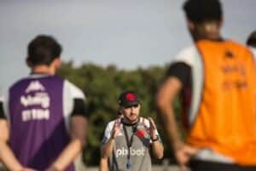
[[[0,1],[0,89],[28,74],[26,46],[54,36],[62,59],[119,68],[164,66],[191,43],[182,0]],[[256,29],[255,0],[223,0],[224,37],[245,42]]]

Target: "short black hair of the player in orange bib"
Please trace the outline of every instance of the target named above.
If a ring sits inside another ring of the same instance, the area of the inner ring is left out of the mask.
[[[188,0],[183,10],[189,20],[195,23],[222,19],[222,7],[218,0]]]

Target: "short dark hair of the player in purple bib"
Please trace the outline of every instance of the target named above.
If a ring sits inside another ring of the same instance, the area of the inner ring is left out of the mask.
[[[32,66],[47,65],[61,55],[61,44],[54,37],[38,35],[27,47],[27,60]]]

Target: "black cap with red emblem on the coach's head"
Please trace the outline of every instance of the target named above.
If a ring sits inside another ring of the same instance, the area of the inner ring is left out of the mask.
[[[132,91],[125,91],[119,96],[119,105],[129,107],[131,105],[139,105],[140,100],[137,95]]]

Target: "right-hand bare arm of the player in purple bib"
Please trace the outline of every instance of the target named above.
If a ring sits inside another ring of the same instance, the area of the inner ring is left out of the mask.
[[[87,130],[87,119],[83,116],[73,116],[70,122],[71,141],[66,148],[57,157],[55,162],[47,169],[47,171],[61,171],[67,168],[79,153],[82,151],[85,144]]]

